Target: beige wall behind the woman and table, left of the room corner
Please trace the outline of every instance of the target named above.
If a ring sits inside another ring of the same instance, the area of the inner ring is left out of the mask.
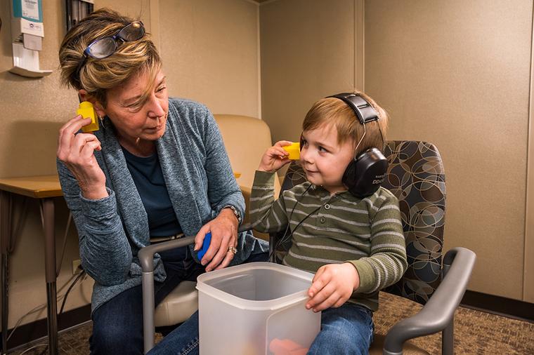
[[[96,8],[107,6],[131,17],[139,16],[150,32],[155,30],[171,95],[204,102],[215,113],[259,115],[258,5],[247,0],[95,2]],[[76,93],[59,84],[57,58],[65,35],[65,1],[43,1],[45,38],[40,63],[41,69],[54,70],[43,79],[25,79],[8,72],[13,65],[9,3],[0,1],[0,178],[53,174],[58,128],[77,108]],[[22,199],[15,199],[15,220],[20,206]],[[56,206],[59,257],[67,208],[62,199]],[[30,200],[11,257],[10,328],[20,316],[46,302],[44,243],[39,224],[39,208]],[[71,264],[76,259],[77,235],[72,228],[58,290],[72,275]],[[88,280],[82,288],[72,290],[65,309],[88,304],[91,287],[92,281]],[[46,309],[22,323],[44,317]]]

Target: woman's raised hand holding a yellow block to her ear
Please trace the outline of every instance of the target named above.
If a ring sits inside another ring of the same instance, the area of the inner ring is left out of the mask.
[[[100,141],[91,133],[77,133],[82,126],[91,123],[78,115],[59,130],[58,159],[65,163],[86,199],[102,199],[108,196],[105,174],[98,166],[94,151],[100,150]]]

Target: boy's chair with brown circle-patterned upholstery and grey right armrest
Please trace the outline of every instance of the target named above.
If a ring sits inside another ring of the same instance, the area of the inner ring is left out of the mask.
[[[389,167],[383,186],[399,200],[408,255],[408,270],[401,281],[386,292],[424,304],[415,316],[397,323],[386,337],[375,336],[371,354],[425,353],[407,340],[443,331],[443,354],[452,354],[452,321],[464,295],[474,266],[475,254],[454,248],[442,260],[445,225],[445,173],[438,149],[431,143],[386,142],[384,154]],[[297,163],[289,166],[282,191],[304,182]],[[271,246],[280,235],[271,236]],[[275,250],[280,262],[289,247],[287,241]],[[419,351],[420,350],[420,351]]]

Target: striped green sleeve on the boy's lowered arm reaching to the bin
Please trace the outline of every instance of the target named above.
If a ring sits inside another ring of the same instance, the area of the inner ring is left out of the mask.
[[[374,293],[401,279],[408,262],[398,200],[391,192],[374,199],[370,208],[371,253],[351,260],[358,270],[360,286],[357,293]],[[376,213],[374,213],[376,211]],[[374,213],[374,215],[373,215]]]

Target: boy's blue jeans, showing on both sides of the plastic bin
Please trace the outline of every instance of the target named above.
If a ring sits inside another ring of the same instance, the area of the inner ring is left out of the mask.
[[[329,308],[321,314],[321,330],[308,354],[359,355],[369,354],[375,325],[372,312],[353,303]],[[148,355],[199,354],[198,312],[157,343]]]

